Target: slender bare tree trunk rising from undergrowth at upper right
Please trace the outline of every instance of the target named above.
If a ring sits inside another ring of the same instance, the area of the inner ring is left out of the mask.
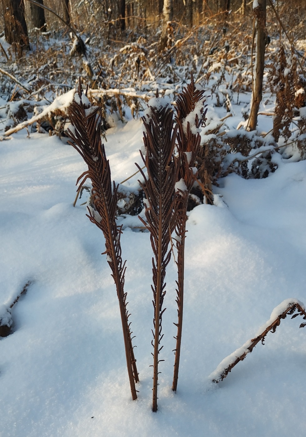
[[[256,31],[256,58],[253,78],[251,111],[248,123],[250,131],[256,129],[257,114],[262,100],[262,84],[264,78],[264,54],[266,45],[266,0],[257,0],[258,6],[253,10]]]

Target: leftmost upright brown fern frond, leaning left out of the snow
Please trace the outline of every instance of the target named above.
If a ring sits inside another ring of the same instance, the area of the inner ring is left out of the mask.
[[[81,79],[74,100],[68,108],[71,125],[68,133],[73,142],[69,142],[88,165],[77,180],[84,184],[87,178],[92,183],[94,208],[88,207],[89,219],[102,230],[105,237],[107,262],[112,270],[119,299],[123,339],[127,359],[127,371],[130,380],[132,399],[137,399],[135,382],[139,381],[131,341],[129,316],[127,311],[127,293],[123,291],[126,261],[122,261],[120,234],[121,227],[116,225],[116,205],[118,185],[112,183],[109,161],[106,159],[104,144],[101,141],[101,113],[98,106],[92,106],[81,88]]]

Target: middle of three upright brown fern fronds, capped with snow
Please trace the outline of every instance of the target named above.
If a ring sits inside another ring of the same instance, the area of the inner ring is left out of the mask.
[[[162,346],[162,309],[165,297],[165,271],[171,258],[169,249],[170,236],[174,228],[173,208],[175,203],[175,184],[178,175],[178,160],[173,156],[176,130],[173,129],[173,111],[165,99],[158,97],[151,99],[148,111],[142,118],[144,123],[145,155],[141,153],[142,160],[148,171],[145,177],[140,166],[137,166],[144,177],[141,187],[147,198],[148,205],[145,209],[147,222],[143,219],[146,228],[150,231],[151,246],[154,257],[152,258],[153,271],[153,307],[154,319],[153,340],[153,402],[152,410],[157,411],[158,387],[158,359]],[[137,165],[137,164],[136,164]]]

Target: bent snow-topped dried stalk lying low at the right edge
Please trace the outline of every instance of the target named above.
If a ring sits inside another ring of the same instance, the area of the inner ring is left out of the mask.
[[[295,311],[297,311],[297,313],[293,314]],[[257,343],[261,341],[261,343],[264,344],[267,333],[269,331],[274,333],[281,323],[281,319],[285,319],[287,315],[292,314],[292,319],[297,316],[302,316],[303,319],[306,320],[305,305],[296,299],[288,299],[278,305],[278,307],[276,307],[272,312],[270,319],[265,324],[263,331],[252,340],[248,340],[242,347],[235,350],[235,352],[226,357],[218,365],[218,368],[210,375],[212,382],[220,382],[226,378],[232,368],[235,367],[239,361],[243,361],[247,354],[252,352]],[[304,326],[306,326],[306,323],[301,323],[299,327],[303,328]]]

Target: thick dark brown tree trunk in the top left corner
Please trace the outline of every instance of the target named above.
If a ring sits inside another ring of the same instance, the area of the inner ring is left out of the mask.
[[[4,33],[9,44],[29,48],[24,0],[3,0]]]

